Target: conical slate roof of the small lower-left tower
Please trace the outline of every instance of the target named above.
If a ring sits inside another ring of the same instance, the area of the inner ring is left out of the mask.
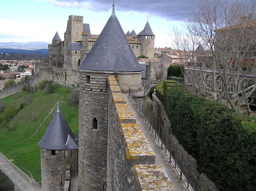
[[[69,128],[59,110],[59,103],[57,111],[38,146],[49,150],[78,149],[78,136]]]

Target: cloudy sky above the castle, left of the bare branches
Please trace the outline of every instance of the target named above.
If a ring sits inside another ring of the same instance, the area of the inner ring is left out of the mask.
[[[170,32],[180,27],[192,0],[115,0],[116,16],[126,33],[143,30],[147,19],[155,47],[170,47]],[[92,34],[100,34],[111,15],[113,0],[9,0],[1,2],[0,42],[51,42],[56,31],[64,40],[69,15],[84,16]]]

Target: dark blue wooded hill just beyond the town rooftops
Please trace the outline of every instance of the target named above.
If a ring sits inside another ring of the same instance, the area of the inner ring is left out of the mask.
[[[23,50],[0,48],[0,60],[39,60],[43,57],[49,57],[48,49]]]

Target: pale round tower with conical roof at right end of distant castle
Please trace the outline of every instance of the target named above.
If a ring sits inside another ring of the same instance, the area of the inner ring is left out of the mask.
[[[155,35],[148,22],[144,29],[137,34],[137,41],[141,42],[141,55],[148,56],[148,58],[154,58]]]

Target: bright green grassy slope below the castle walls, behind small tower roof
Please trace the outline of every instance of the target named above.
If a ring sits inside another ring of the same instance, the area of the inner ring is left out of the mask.
[[[9,104],[20,103],[25,94],[27,92],[20,92],[0,101]],[[15,100],[19,95],[22,97]],[[29,106],[20,110],[16,117],[10,121],[9,126],[13,126],[14,130],[5,131],[0,128],[0,151],[7,158],[13,159],[13,163],[28,176],[31,177],[32,174],[36,181],[41,181],[40,148],[37,144],[50,124],[56,107],[45,121],[44,119],[58,100],[61,113],[73,132],[78,134],[78,107],[71,107],[66,102],[67,96],[67,87],[60,87],[53,94],[45,94],[43,91],[34,92],[33,101]],[[42,123],[38,133],[30,139]]]

